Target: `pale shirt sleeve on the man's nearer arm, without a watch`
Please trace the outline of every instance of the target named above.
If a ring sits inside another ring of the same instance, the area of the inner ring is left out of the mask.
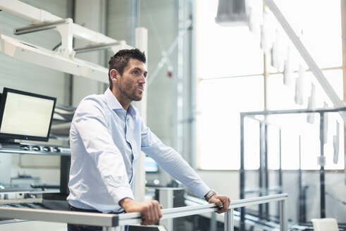
[[[85,150],[94,160],[109,194],[118,204],[121,199],[134,199],[134,196],[128,183],[123,156],[113,142],[105,115],[99,102],[85,99],[78,106],[71,126],[78,133],[75,135],[82,139]],[[70,134],[70,138],[75,135]]]

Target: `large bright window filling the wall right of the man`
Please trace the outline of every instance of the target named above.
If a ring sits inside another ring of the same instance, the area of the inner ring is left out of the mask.
[[[283,41],[280,43],[282,58],[276,68],[268,65],[268,56],[273,53],[266,54],[269,71],[266,81],[266,109],[307,108],[312,84],[316,87],[315,107],[333,106],[272,13],[268,9],[263,13],[263,6],[258,4],[258,1],[248,2],[260,23],[262,18],[268,20],[264,23],[269,22],[271,27],[269,29],[272,33],[267,36],[267,39],[271,40],[271,46],[273,47],[278,35]],[[239,113],[264,110],[264,51],[260,48],[260,32],[250,32],[249,27],[221,27],[216,24],[217,4],[217,0],[197,1],[197,160],[201,169],[237,170],[240,167]],[[342,99],[340,2],[330,1],[323,4],[323,1],[313,0],[280,0],[276,1],[276,4]],[[287,58],[288,47],[292,51],[292,81],[290,85],[284,85],[283,61]],[[296,104],[295,82],[299,75],[299,65],[304,69],[304,80],[299,86],[304,101]],[[297,169],[299,161],[302,169],[319,168],[319,115],[309,116],[314,117],[313,123],[307,123],[305,114],[268,118],[273,124],[268,127],[269,168],[278,169],[279,166],[279,129],[283,169]],[[330,113],[327,125],[327,142],[324,146],[326,168],[343,169],[343,123],[340,115]],[[333,139],[337,126],[340,151],[338,163],[334,163]],[[259,168],[259,123],[252,119],[245,120],[245,168]]]

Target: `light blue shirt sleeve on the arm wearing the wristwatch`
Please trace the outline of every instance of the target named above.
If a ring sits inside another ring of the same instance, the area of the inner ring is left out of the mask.
[[[209,192],[209,187],[191,166],[173,148],[166,146],[154,133],[141,123],[142,144],[141,149],[145,154],[153,158],[161,168],[166,170],[175,179],[183,182],[192,189],[197,196],[203,197]]]

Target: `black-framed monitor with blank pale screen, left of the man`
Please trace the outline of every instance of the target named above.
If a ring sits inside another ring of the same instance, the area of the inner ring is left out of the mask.
[[[0,104],[1,139],[48,141],[56,98],[4,88]]]

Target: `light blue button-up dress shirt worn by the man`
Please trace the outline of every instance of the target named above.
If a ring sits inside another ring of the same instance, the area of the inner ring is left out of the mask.
[[[144,125],[137,108],[127,111],[108,88],[85,97],[70,127],[71,167],[68,203],[102,213],[119,212],[132,189],[140,151],[190,187],[199,197],[209,192],[197,173]]]

